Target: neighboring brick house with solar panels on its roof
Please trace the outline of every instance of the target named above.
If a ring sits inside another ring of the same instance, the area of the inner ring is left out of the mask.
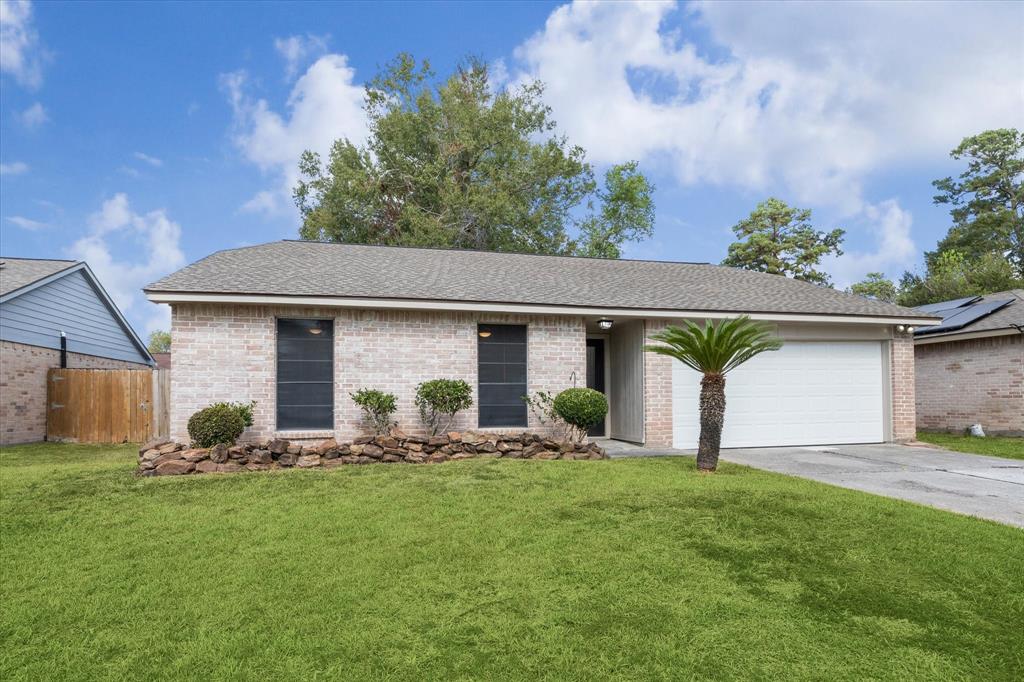
[[[918,425],[1024,435],[1024,289],[918,309],[942,317],[914,332]]]

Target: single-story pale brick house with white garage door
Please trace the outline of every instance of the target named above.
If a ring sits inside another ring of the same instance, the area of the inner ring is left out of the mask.
[[[539,429],[525,393],[608,396],[594,435],[696,443],[699,377],[643,351],[681,319],[740,313],[786,341],[730,375],[725,446],[914,435],[913,342],[937,318],[719,265],[284,241],[217,252],[145,288],[172,309],[171,435],[217,400],[255,400],[244,437],[346,438],[349,392],[397,394],[419,429],[421,381],[462,378],[457,428]]]

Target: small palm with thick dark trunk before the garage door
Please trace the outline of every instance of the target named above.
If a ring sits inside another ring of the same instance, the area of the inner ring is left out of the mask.
[[[755,355],[778,350],[782,340],[773,336],[768,326],[746,315],[717,325],[709,322],[703,328],[687,321],[685,329],[670,325],[650,338],[665,345],[644,346],[644,350],[675,357],[703,375],[697,469],[714,471],[725,423],[725,375]]]

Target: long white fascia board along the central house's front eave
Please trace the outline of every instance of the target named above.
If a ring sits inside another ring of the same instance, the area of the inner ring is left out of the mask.
[[[540,315],[598,315],[622,318],[720,319],[746,314],[764,322],[818,322],[853,325],[938,325],[941,317],[880,317],[841,314],[735,312],[712,310],[666,310],[655,308],[582,307],[530,303],[478,303],[472,301],[425,301],[417,299],[337,298],[329,296],[273,296],[254,294],[177,294],[145,292],[154,303],[243,303],[250,305],[304,305],[324,308],[376,308],[390,310],[449,310],[458,312],[502,312]]]

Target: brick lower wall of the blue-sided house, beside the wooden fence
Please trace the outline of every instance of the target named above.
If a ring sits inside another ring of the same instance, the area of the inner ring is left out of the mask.
[[[46,437],[46,371],[60,367],[60,351],[0,341],[0,445]],[[147,365],[68,353],[79,370],[140,370]]]

